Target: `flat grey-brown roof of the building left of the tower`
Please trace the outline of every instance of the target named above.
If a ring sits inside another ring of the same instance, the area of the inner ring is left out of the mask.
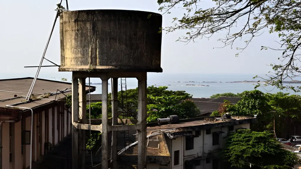
[[[6,105],[23,102],[33,82],[32,77],[0,79],[0,112],[12,111]],[[71,94],[72,83],[53,81],[46,79],[37,79],[33,88],[33,101],[19,105],[21,107],[36,108],[54,100],[61,100],[67,94]],[[89,87],[86,85],[86,90]],[[62,92],[60,92],[62,91]],[[95,87],[91,86],[91,91],[95,91]],[[44,97],[46,99],[40,99]]]

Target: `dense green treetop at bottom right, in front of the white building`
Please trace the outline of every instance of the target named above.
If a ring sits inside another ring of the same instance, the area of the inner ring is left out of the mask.
[[[299,158],[281,146],[269,132],[238,130],[228,137],[224,156],[232,167],[289,169],[300,162]]]

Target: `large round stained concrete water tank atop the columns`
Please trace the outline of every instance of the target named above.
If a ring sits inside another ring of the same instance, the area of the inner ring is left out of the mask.
[[[161,27],[152,12],[62,11],[59,71],[162,72]]]

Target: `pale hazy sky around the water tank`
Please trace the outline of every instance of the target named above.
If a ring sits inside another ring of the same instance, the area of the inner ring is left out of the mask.
[[[0,17],[0,78],[34,77],[37,66],[45,48],[51,26],[54,21],[56,4],[59,0],[15,0],[1,1]],[[158,12],[156,0],[69,0],[70,10],[85,9],[129,9]],[[203,2],[204,8],[210,4]],[[65,6],[65,1],[63,1]],[[171,25],[173,17],[181,16],[181,10],[173,10],[172,14],[163,15],[163,27]],[[175,40],[185,32],[163,33],[161,66],[164,73],[200,73],[200,74],[265,74],[271,70],[270,63],[277,61],[281,52],[260,51],[263,45],[273,46],[277,35],[267,33],[256,38],[249,48],[235,57],[237,50],[222,46],[217,41],[219,36],[200,39],[196,43],[185,45]],[[238,42],[244,43],[244,42]],[[237,46],[235,46],[237,47]],[[60,64],[59,24],[55,26],[46,58]],[[51,65],[44,60],[43,65]],[[8,76],[9,75],[9,76]],[[41,69],[42,78],[48,76],[64,76],[56,67]],[[6,76],[6,77],[5,77]]]

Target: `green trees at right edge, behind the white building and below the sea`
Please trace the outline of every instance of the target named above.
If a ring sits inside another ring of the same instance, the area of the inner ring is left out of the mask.
[[[244,91],[241,100],[232,105],[225,101],[212,115],[257,115],[257,122],[251,126],[254,131],[273,131],[275,119],[276,135],[287,137],[292,133],[291,127],[301,122],[301,97],[278,92],[262,93],[258,90]],[[286,135],[284,135],[286,134]]]

